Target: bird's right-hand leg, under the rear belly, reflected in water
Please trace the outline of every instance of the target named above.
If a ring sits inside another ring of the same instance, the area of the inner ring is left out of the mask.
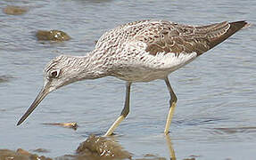
[[[167,88],[169,90],[169,95],[170,95],[170,100],[169,100],[169,113],[168,113],[168,116],[167,116],[167,120],[166,120],[166,124],[165,124],[165,129],[164,129],[164,134],[167,135],[169,133],[169,125],[171,123],[171,119],[172,119],[172,116],[173,116],[173,113],[174,113],[174,109],[176,107],[176,102],[177,102],[177,97],[175,95],[175,93],[173,92],[170,84],[169,84],[169,79],[168,77],[166,77],[164,79],[166,85],[167,85]]]

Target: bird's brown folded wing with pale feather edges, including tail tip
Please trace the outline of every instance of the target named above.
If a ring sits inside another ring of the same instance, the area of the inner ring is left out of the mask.
[[[135,39],[146,44],[145,52],[192,53],[197,56],[232,36],[246,25],[245,21],[221,22],[202,27],[179,25],[169,21],[152,21],[138,30]]]

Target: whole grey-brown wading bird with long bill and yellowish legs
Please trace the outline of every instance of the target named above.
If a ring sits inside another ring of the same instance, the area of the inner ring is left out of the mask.
[[[169,90],[169,113],[164,130],[168,134],[178,100],[169,84],[169,74],[223,42],[246,24],[245,21],[224,21],[194,27],[166,20],[142,20],[113,28],[103,34],[95,50],[85,56],[61,55],[49,62],[42,90],[17,125],[49,92],[81,80],[115,76],[127,82],[126,99],[120,116],[105,136],[111,135],[128,116],[131,84],[155,79],[164,80]]]

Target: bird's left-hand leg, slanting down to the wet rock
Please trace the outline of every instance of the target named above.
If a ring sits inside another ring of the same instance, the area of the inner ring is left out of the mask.
[[[125,100],[125,106],[120,114],[120,116],[117,118],[117,120],[111,125],[110,129],[108,132],[105,133],[104,136],[110,136],[113,131],[116,129],[117,126],[122,122],[122,120],[125,119],[126,116],[128,116],[129,112],[129,95],[130,95],[130,82],[127,82],[126,84],[126,100]]]

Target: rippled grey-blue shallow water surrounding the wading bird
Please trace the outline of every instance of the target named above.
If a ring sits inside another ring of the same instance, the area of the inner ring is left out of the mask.
[[[22,15],[7,5],[28,7]],[[45,156],[73,154],[94,133],[103,135],[123,108],[125,83],[106,77],[53,92],[21,126],[22,114],[43,85],[45,64],[60,54],[85,55],[105,31],[134,20],[162,19],[202,25],[223,20],[255,24],[256,1],[220,0],[4,0],[0,1],[0,148],[34,150]],[[59,29],[63,43],[38,42],[37,30]],[[169,138],[178,159],[253,159],[256,151],[255,26],[219,44],[169,76],[178,107]],[[163,81],[132,85],[131,111],[115,140],[133,154],[169,158],[163,136],[169,93]],[[77,122],[78,130],[48,123]]]

